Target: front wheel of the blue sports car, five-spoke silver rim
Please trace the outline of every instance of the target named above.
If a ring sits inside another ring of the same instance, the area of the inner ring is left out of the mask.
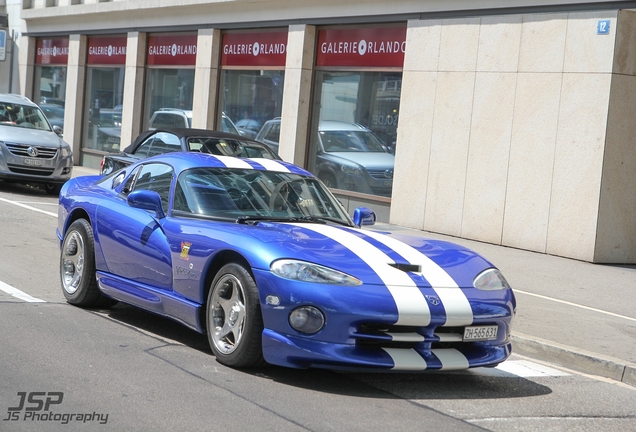
[[[208,342],[219,363],[234,368],[265,365],[258,288],[245,267],[226,264],[214,277],[206,322]]]

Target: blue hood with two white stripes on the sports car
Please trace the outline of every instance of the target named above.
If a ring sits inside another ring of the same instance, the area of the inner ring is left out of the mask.
[[[252,235],[270,244],[269,259],[318,263],[365,284],[472,287],[475,276],[493,267],[470,249],[423,237],[308,223],[258,226]]]

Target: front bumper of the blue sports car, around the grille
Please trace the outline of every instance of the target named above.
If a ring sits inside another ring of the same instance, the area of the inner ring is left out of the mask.
[[[342,287],[310,284],[255,271],[261,296],[263,355],[269,363],[293,367],[348,370],[453,370],[496,366],[511,354],[510,327],[515,311],[512,290],[462,289],[472,320],[447,326],[444,307],[430,308],[425,325],[395,325],[399,312],[389,289],[381,285]],[[418,288],[423,296],[435,290]],[[279,304],[267,303],[275,296]],[[289,314],[311,305],[323,313],[325,325],[304,335],[289,324]],[[451,305],[446,305],[451,306]],[[450,308],[452,309],[452,308]],[[494,340],[464,341],[468,325],[496,325]]]

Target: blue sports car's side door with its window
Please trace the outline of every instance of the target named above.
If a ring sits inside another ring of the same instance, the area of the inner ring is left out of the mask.
[[[115,200],[98,206],[96,238],[110,273],[172,289],[172,258],[161,226],[164,221],[157,220],[153,212],[129,206],[127,196],[134,190],[154,190],[167,211],[173,175],[172,167],[163,163],[142,165]]]

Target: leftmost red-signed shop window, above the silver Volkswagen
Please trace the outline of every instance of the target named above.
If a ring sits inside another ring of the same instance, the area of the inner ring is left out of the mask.
[[[36,42],[33,101],[53,126],[64,129],[68,38],[38,39]]]

